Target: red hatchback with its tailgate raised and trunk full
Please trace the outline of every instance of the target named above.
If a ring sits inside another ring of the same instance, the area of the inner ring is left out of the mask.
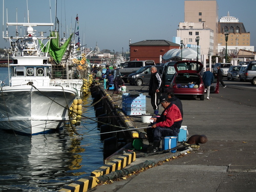
[[[175,63],[176,73],[171,82],[175,95],[193,95],[204,100],[204,83],[200,71],[203,65],[199,61],[183,60]]]

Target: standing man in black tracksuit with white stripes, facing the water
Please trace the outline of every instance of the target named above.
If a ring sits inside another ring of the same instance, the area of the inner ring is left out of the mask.
[[[158,115],[158,105],[159,105],[159,97],[161,95],[160,93],[160,87],[161,87],[161,77],[157,73],[157,68],[155,66],[151,67],[151,78],[150,78],[150,86],[148,90],[148,95],[151,96],[151,104],[154,109],[154,114]]]

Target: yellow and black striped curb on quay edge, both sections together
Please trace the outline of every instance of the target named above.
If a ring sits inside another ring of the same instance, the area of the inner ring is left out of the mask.
[[[94,170],[94,172],[91,173],[91,176],[81,178],[67,186],[64,186],[62,189],[58,190],[58,192],[86,192],[97,186],[97,177],[120,170],[135,160],[135,152],[125,153],[104,166],[101,166],[98,170]]]

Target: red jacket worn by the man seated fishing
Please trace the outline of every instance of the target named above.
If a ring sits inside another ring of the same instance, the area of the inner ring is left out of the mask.
[[[157,126],[170,127],[175,121],[182,120],[180,110],[177,105],[173,104],[169,109],[166,110],[165,120],[156,123]]]

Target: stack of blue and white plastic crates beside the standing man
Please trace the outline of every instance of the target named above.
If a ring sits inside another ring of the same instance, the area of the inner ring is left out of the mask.
[[[146,113],[146,96],[130,97],[130,93],[122,95],[122,110],[126,115],[142,115]]]

